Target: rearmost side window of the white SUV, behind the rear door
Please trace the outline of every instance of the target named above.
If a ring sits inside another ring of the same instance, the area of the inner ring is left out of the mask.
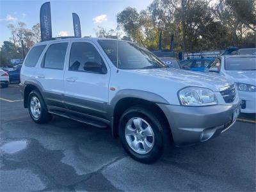
[[[29,51],[24,65],[26,65],[27,67],[35,67],[36,63],[37,63],[40,55],[44,51],[45,47],[46,47],[46,45],[38,45],[38,46],[33,47]]]

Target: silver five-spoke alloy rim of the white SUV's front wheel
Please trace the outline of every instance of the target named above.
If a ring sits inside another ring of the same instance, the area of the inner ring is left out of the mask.
[[[143,118],[131,118],[125,126],[129,147],[138,154],[147,154],[154,146],[154,132]]]

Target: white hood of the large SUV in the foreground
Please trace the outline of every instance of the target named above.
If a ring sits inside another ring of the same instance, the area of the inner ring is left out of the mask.
[[[220,88],[233,84],[225,77],[216,76],[215,74],[205,74],[189,70],[180,70],[176,68],[154,68],[133,70],[138,74],[177,81],[185,86],[200,86],[209,88],[214,92],[219,92]]]

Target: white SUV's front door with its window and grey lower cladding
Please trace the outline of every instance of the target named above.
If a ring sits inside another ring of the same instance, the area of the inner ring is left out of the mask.
[[[109,77],[109,67],[93,42],[72,42],[64,76],[67,108],[107,118]]]

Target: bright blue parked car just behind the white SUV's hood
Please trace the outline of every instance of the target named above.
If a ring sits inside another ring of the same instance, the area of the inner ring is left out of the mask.
[[[180,66],[185,70],[205,72],[205,67],[207,67],[213,60],[214,58],[189,58],[188,60],[180,61]]]

